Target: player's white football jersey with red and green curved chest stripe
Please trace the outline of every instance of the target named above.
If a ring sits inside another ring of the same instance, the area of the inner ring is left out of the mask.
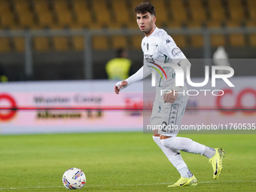
[[[151,69],[151,72],[154,70],[156,74],[156,99],[163,101],[161,90],[172,90],[175,87],[175,70],[170,66],[163,66],[163,64],[172,63],[173,65],[178,65],[178,62],[181,59],[186,59],[186,56],[177,47],[172,37],[165,30],[157,27],[151,35],[142,39],[142,51],[144,54],[144,67]],[[185,85],[179,92],[175,102],[188,99]]]

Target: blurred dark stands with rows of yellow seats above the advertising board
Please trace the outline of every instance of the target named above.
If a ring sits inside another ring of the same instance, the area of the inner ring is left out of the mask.
[[[0,62],[9,81],[105,79],[105,63],[126,47],[142,66],[142,33],[133,8],[142,0],[0,0]],[[157,26],[187,58],[254,58],[256,1],[151,0]],[[241,63],[235,75],[242,72]],[[204,74],[192,71],[193,77]]]

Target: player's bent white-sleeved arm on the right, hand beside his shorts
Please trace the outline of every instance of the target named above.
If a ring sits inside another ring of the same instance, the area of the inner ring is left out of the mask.
[[[187,68],[190,68],[191,63],[188,61],[186,56],[184,56],[184,53],[177,47],[175,44],[175,41],[169,36],[169,35],[163,35],[161,38],[160,43],[160,51],[165,54],[166,56],[169,56],[169,58],[172,59],[172,62],[174,62],[174,65],[181,66],[181,69],[184,72],[184,81],[187,78]],[[182,87],[172,87],[171,93],[166,93],[163,96],[164,102],[175,102],[175,99],[177,99],[178,92],[181,90]]]

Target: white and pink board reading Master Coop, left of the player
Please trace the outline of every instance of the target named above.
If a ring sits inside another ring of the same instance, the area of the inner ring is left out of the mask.
[[[142,108],[142,82],[118,96],[114,93],[115,83],[58,81],[0,84],[1,133],[141,130],[142,112],[122,109],[138,108],[139,105]],[[108,108],[108,111],[102,108]]]

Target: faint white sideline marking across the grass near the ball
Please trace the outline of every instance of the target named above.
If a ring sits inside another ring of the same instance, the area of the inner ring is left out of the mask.
[[[207,183],[245,183],[245,182],[256,182],[256,181],[202,181],[198,182],[199,184],[207,184]],[[115,184],[115,185],[90,185],[89,187],[104,187],[104,186],[139,186],[139,185],[157,185],[157,184],[171,184],[171,183],[154,183],[154,184]],[[55,188],[55,187],[63,187],[63,186],[47,186],[47,187],[10,187],[10,188],[0,188],[0,190],[18,190],[18,189],[40,189],[40,188]]]

